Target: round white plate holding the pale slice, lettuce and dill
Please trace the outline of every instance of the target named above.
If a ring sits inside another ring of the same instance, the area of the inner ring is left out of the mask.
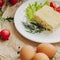
[[[48,32],[48,31],[43,31],[41,33],[36,33],[36,34],[26,32],[26,28],[22,24],[22,21],[25,22],[27,20],[25,10],[27,6],[29,5],[29,3],[32,4],[35,1],[38,1],[39,3],[45,2],[45,0],[29,0],[18,8],[14,17],[14,23],[15,23],[16,29],[25,38],[34,42],[38,42],[38,43],[60,42],[60,28],[54,31],[53,33]]]

